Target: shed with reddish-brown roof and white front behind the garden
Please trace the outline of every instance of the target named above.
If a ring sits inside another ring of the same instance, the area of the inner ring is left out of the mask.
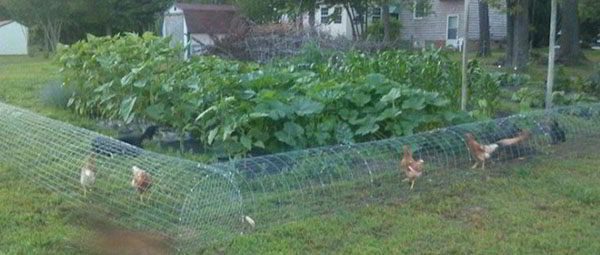
[[[212,4],[174,4],[164,13],[162,35],[173,43],[186,46],[186,57],[202,54],[236,25],[239,12],[235,6]],[[239,24],[239,23],[237,23]]]

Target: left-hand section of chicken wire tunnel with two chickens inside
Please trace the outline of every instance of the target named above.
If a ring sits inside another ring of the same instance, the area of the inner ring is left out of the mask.
[[[101,146],[94,143],[98,140]],[[119,225],[164,234],[177,247],[239,233],[241,197],[231,173],[143,151],[1,103],[0,164],[71,202],[105,212]],[[82,168],[95,171],[85,196]],[[132,186],[133,168],[149,175],[147,189]]]

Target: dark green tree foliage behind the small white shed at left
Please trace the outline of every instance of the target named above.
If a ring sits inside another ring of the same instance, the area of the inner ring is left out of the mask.
[[[86,34],[152,30],[170,0],[0,0],[0,10],[41,31],[46,49],[71,43]]]

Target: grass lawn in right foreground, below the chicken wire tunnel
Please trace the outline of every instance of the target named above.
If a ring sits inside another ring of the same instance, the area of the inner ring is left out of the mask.
[[[499,166],[492,170],[502,173],[497,176],[276,226],[206,253],[594,254],[600,250],[599,163],[538,159]]]

